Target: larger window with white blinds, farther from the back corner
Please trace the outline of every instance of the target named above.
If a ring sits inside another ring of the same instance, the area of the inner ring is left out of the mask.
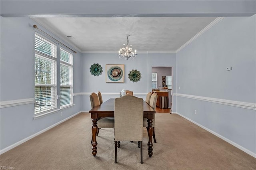
[[[57,108],[56,53],[56,44],[35,34],[35,114]]]

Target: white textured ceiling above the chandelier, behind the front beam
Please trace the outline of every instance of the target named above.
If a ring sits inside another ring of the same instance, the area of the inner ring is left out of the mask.
[[[216,17],[33,19],[81,52],[118,51],[130,34],[130,44],[140,53],[176,51]]]

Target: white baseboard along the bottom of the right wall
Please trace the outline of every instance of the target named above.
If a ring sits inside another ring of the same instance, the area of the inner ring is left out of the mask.
[[[200,125],[199,123],[196,123],[195,121],[192,121],[191,119],[189,119],[188,117],[185,117],[184,115],[181,115],[180,113],[173,112],[172,114],[180,115],[181,117],[187,119],[188,121],[194,123],[195,125],[198,125],[199,127],[203,128],[204,130],[207,130],[208,132],[214,134],[215,136],[221,138],[222,140],[225,140],[226,142],[232,144],[232,145],[235,146],[236,148],[238,148],[238,149],[240,149],[240,150],[246,152],[246,153],[249,154],[250,156],[253,156],[254,158],[256,158],[256,153],[254,153],[254,152],[252,152],[252,151],[250,151],[250,150],[248,150],[248,149],[246,149],[246,148],[240,146],[239,144],[233,142],[232,140],[229,140],[228,138],[225,138],[224,136],[222,136],[222,135],[220,135],[220,134],[218,134],[218,133],[216,133],[216,132],[214,132],[214,131],[212,131],[212,130],[210,130],[210,129],[208,129],[208,128],[202,126],[202,125]]]

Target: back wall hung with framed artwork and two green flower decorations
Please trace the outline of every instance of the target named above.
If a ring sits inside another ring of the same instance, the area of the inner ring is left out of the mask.
[[[90,73],[90,67],[99,63],[103,67],[100,76]],[[106,64],[124,64],[124,83],[106,83]],[[152,66],[173,66],[176,69],[176,54],[172,53],[139,53],[134,60],[119,59],[117,53],[84,53],[82,56],[82,111],[91,109],[89,95],[100,91],[103,101],[120,96],[122,89],[134,92],[134,96],[146,99],[146,94],[152,91]],[[138,82],[128,79],[128,73],[137,69],[141,73]]]

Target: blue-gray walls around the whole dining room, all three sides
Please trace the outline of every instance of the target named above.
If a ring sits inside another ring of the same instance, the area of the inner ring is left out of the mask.
[[[116,53],[78,52],[74,54],[75,106],[64,109],[62,116],[57,112],[36,120],[34,24],[48,32],[30,18],[1,17],[0,100],[1,106],[8,103],[0,110],[1,150],[90,110],[91,92],[101,91],[106,101],[126,88],[145,98],[151,89],[151,67],[171,66],[172,111],[255,156],[256,16],[224,18],[177,54],[139,53],[134,61],[125,61]],[[102,65],[102,75],[90,74],[93,63]],[[124,83],[106,83],[106,64],[124,64]],[[229,66],[232,70],[226,71]],[[137,83],[128,79],[132,69],[142,73]]]

